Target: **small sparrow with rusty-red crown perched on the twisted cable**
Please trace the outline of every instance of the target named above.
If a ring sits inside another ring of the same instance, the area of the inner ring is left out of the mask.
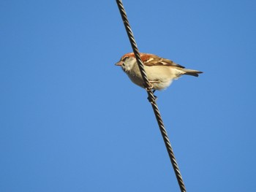
[[[150,53],[140,53],[140,58],[143,61],[151,89],[154,91],[166,89],[173,80],[177,80],[183,74],[198,77],[198,74],[203,73],[197,70],[185,69],[184,66],[176,64],[167,58],[161,58]],[[123,69],[132,82],[145,88],[134,53],[123,55],[120,61],[116,63],[116,66],[121,66],[121,69]]]

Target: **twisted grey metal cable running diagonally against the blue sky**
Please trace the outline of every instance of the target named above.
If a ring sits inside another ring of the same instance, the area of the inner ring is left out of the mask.
[[[146,91],[148,93],[148,101],[150,101],[150,103],[152,105],[152,108],[154,110],[154,115],[155,115],[155,117],[157,119],[157,123],[158,123],[159,129],[161,131],[162,138],[164,139],[165,147],[166,147],[167,153],[168,153],[168,155],[170,157],[170,162],[171,162],[171,164],[173,166],[174,172],[176,174],[176,178],[178,180],[178,185],[179,185],[179,187],[181,189],[181,192],[186,192],[186,188],[185,188],[183,179],[181,177],[181,172],[178,169],[178,164],[177,164],[176,158],[175,158],[174,153],[173,153],[173,148],[170,145],[170,140],[169,140],[169,138],[167,136],[167,131],[165,130],[164,123],[162,122],[162,118],[161,118],[159,109],[157,107],[155,96],[154,96],[153,92],[151,91],[151,84],[148,81],[148,77],[146,75],[146,72],[145,72],[145,69],[144,69],[144,66],[143,66],[143,62],[141,61],[140,53],[139,53],[137,44],[135,42],[135,38],[133,37],[132,29],[129,26],[129,21],[128,21],[128,18],[127,18],[127,13],[124,10],[124,5],[122,4],[121,0],[116,0],[116,4],[118,5],[118,9],[120,11],[121,18],[122,18],[122,20],[124,22],[124,27],[125,27],[125,29],[127,31],[128,37],[129,37],[129,42],[132,45],[132,50],[135,53],[135,58],[137,60],[138,66],[139,66],[141,76],[143,77],[144,87],[146,88]]]

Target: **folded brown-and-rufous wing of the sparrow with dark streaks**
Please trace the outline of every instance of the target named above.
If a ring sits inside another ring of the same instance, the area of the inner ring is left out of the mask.
[[[157,55],[142,54],[142,55],[140,55],[140,57],[143,61],[143,64],[146,66],[177,66],[179,68],[185,68],[184,66],[176,64],[167,58],[160,58]]]

